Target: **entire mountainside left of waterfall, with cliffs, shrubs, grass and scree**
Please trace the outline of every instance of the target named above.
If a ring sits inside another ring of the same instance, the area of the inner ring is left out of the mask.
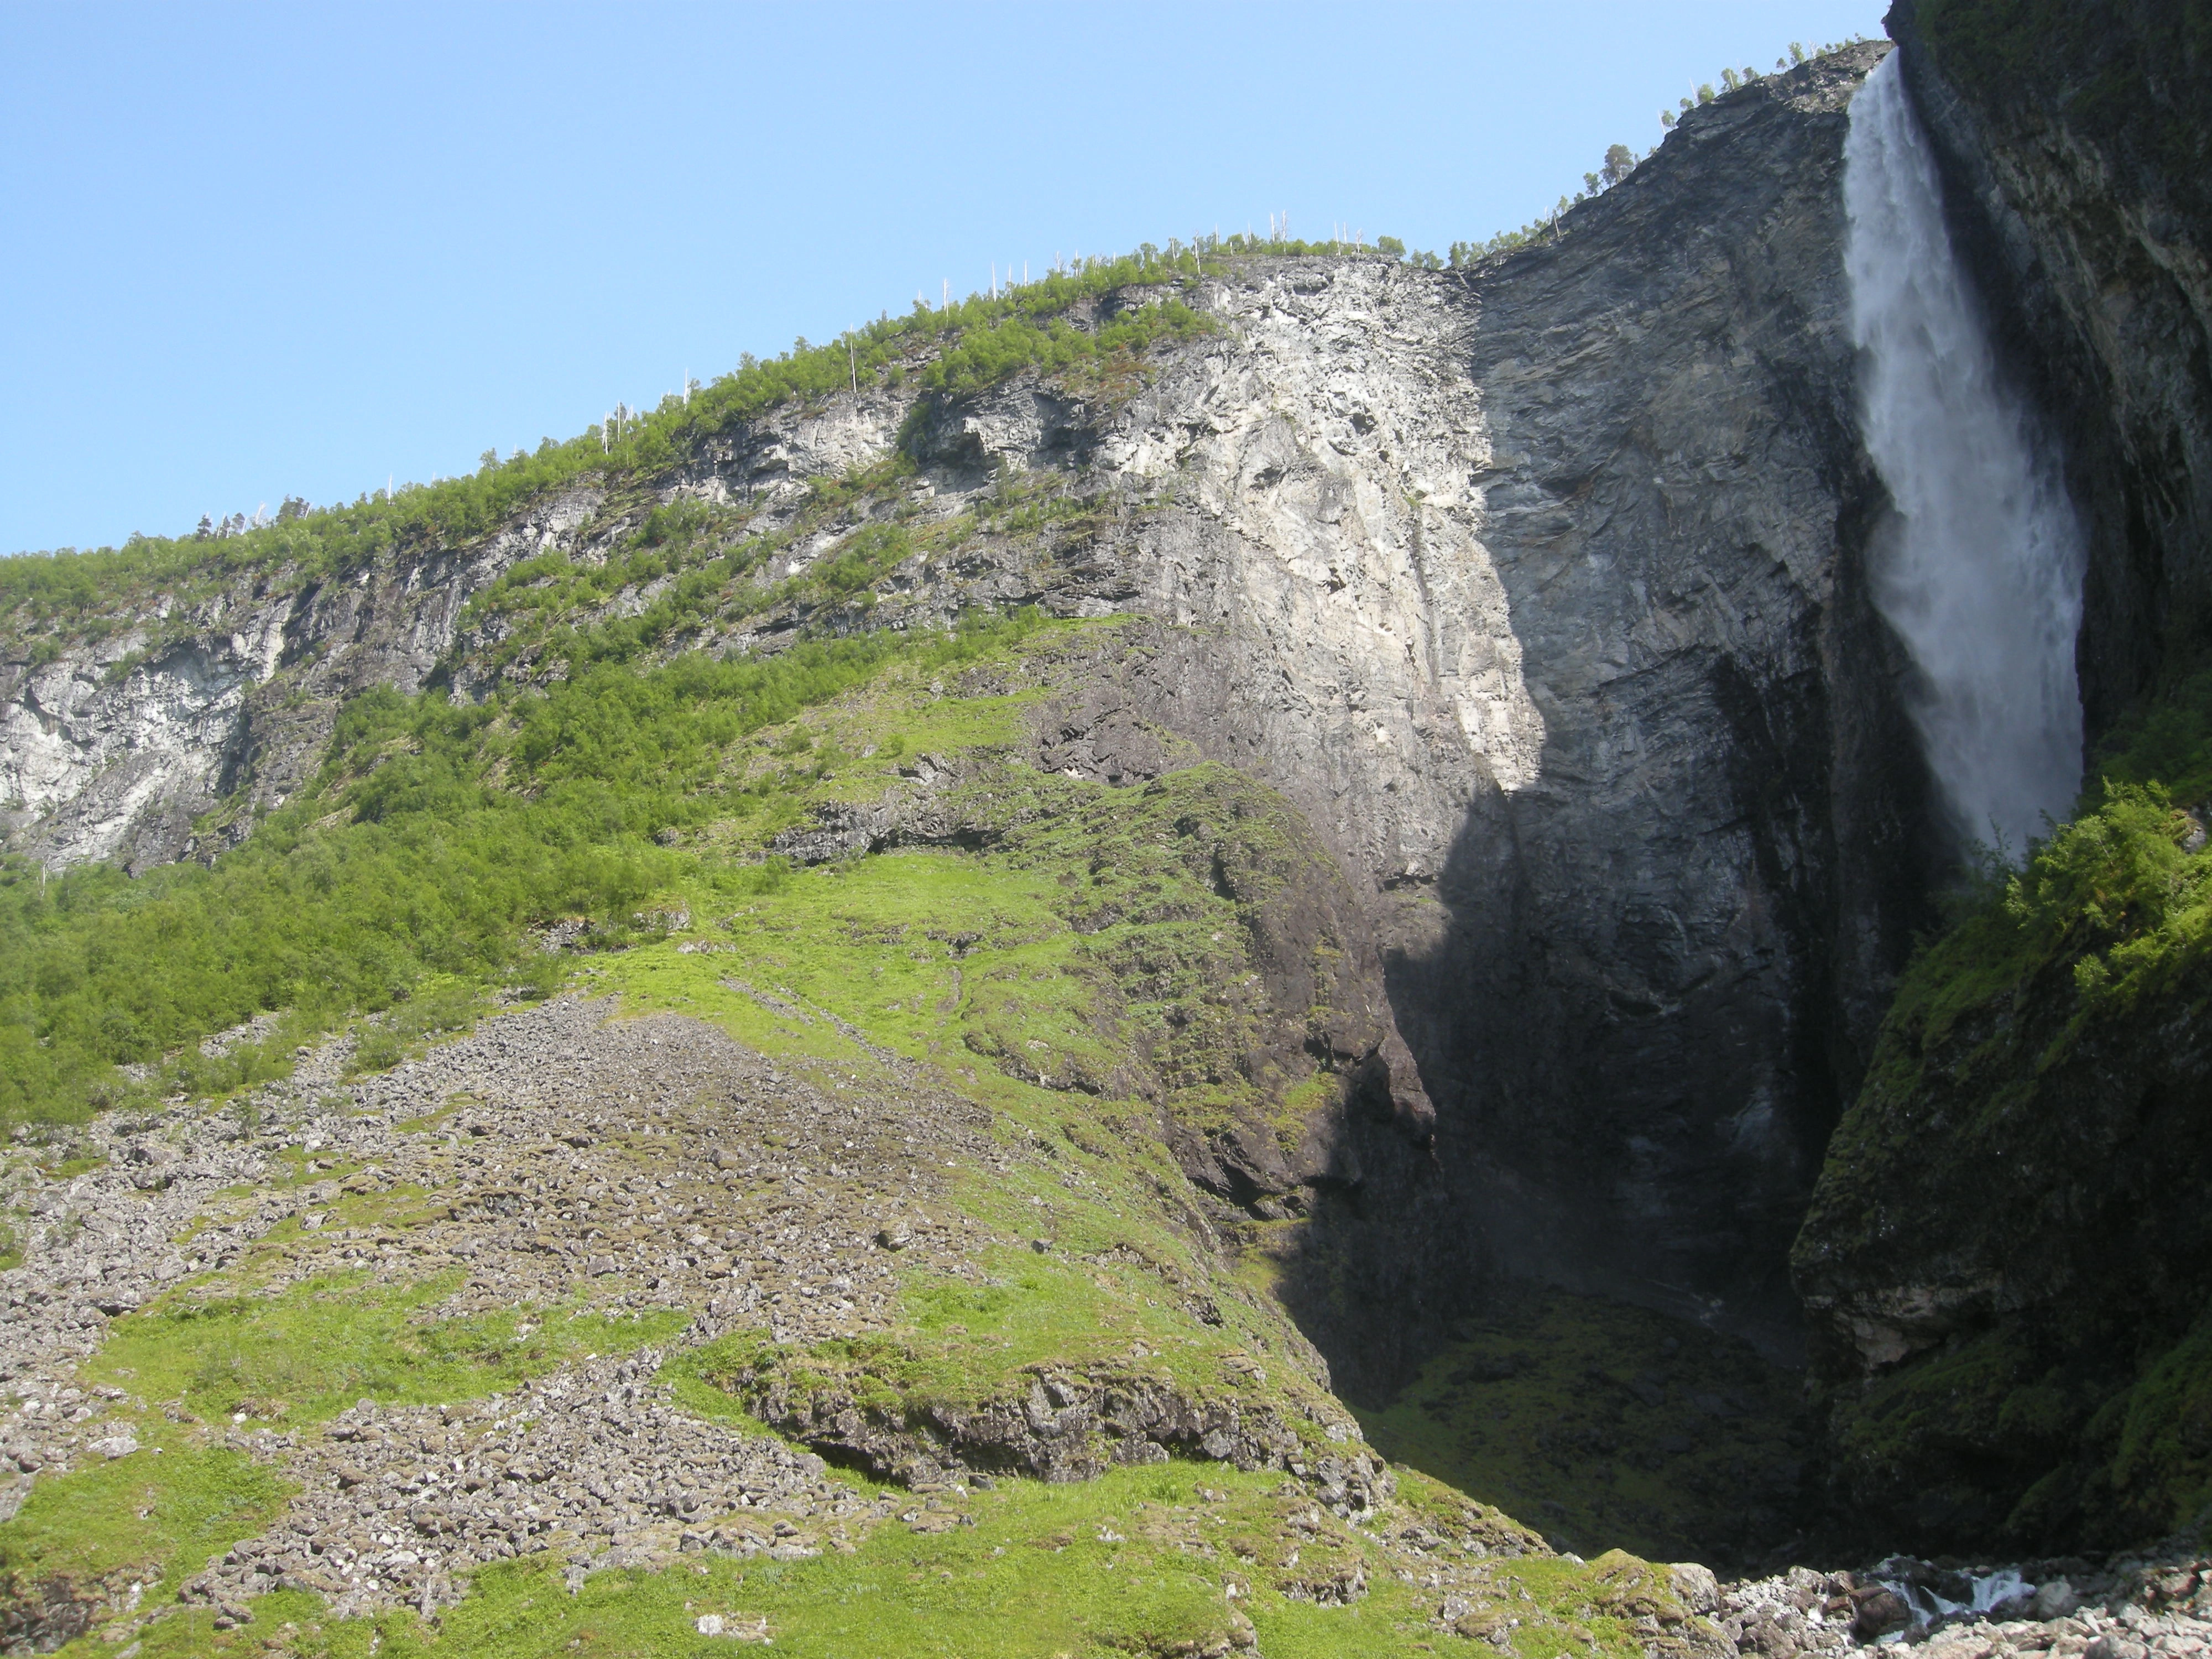
[[[1840,263],[1885,51],[1471,268],[1146,250],[0,586],[11,1644],[1905,1619],[1648,1564],[1860,1480],[1790,1248],[1949,858]]]

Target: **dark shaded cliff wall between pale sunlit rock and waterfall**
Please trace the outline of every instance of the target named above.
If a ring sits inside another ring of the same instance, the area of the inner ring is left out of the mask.
[[[1663,1316],[1803,1363],[1790,1243],[1942,856],[1867,593],[1887,495],[1856,427],[1840,144],[1874,55],[1703,117],[1469,288],[1484,549],[1546,737],[1533,779],[1475,790],[1433,883],[1383,896],[1433,1146],[1318,1192],[1287,1263],[1376,1422],[1458,1413],[1482,1385],[1422,1367],[1469,1318],[1480,1340],[1517,1318],[1515,1285],[1601,1298],[1588,1329]],[[1515,1340],[1584,1340],[1562,1332]],[[1604,1493],[1619,1444],[1553,1436],[1546,1467]],[[1774,1515],[1801,1504],[1767,1486]],[[1747,1559],[1630,1509],[1615,1537]]]

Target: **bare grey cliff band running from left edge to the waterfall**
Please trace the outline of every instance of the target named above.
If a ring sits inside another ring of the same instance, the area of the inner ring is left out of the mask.
[[[1332,1064],[1365,1082],[1303,1130],[1177,1144],[1212,1190],[1307,1214],[1285,1287],[1338,1383],[1394,1385],[1498,1267],[1790,1352],[1785,1245],[1918,920],[1922,779],[1865,597],[1878,484],[1840,265],[1845,106],[1880,51],[1699,108],[1555,241],[1473,274],[1232,268],[1192,294],[1214,332],[1137,387],[841,394],[478,544],[124,619],[0,686],[15,845],[204,856],[299,785],[352,690],[529,672],[491,666],[498,617],[462,615],[518,560],[595,557],[659,502],[794,524],[807,480],[905,434],[925,520],[1009,478],[1066,480],[1084,511],[898,564],[867,626],[1126,617],[1055,684],[1037,768],[1241,768],[1345,876],[1352,911],[1318,894],[1287,956],[1307,933],[1345,951],[1329,998],[1374,1013]],[[679,646],[856,624],[790,602]]]

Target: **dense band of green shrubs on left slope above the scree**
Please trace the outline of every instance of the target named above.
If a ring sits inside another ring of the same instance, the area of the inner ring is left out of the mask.
[[[146,1086],[161,1091],[250,1082],[299,1035],[403,1002],[436,975],[542,984],[531,922],[633,927],[633,907],[677,867],[659,832],[752,812],[776,787],[723,776],[734,741],[894,659],[951,664],[1029,626],[876,633],[765,661],[679,657],[644,675],[608,664],[482,706],[376,690],[338,719],[316,783],[212,867],[49,880],[11,860],[0,1121],[122,1099],[117,1064],[150,1066]],[[761,878],[723,872],[739,887]],[[274,1009],[290,1011],[281,1040],[221,1060],[192,1046]]]

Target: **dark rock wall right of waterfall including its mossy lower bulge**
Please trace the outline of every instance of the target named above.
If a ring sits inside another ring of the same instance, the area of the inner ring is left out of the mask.
[[[2088,520],[2093,779],[2157,781],[2201,814],[2201,24],[2172,4],[1936,0],[1889,22],[1955,239]],[[1836,1135],[1796,1281],[1838,1511],[1885,1546],[2110,1546],[2203,1500],[2212,980],[2183,920],[2201,845],[2163,801],[2084,821],[1913,971]],[[2110,902],[2126,860],[2157,876]],[[2148,971],[2104,995],[2106,960]]]

